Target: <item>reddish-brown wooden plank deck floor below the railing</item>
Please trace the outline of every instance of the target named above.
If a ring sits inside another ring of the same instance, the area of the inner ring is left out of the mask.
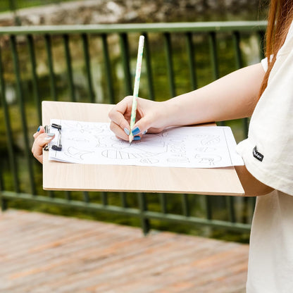
[[[243,293],[248,245],[0,211],[1,293]]]

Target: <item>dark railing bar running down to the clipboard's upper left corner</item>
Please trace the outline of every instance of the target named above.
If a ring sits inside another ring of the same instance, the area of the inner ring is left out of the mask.
[[[35,97],[35,104],[37,106],[37,114],[39,118],[39,125],[42,125],[42,110],[41,110],[41,100],[39,99],[39,87],[37,82],[37,63],[36,63],[36,55],[35,55],[35,46],[34,39],[32,35],[27,35],[27,44],[28,51],[30,53],[30,63],[32,65],[32,87]]]

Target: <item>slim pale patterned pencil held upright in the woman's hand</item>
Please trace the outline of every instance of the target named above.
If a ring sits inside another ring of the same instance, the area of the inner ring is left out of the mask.
[[[137,52],[137,68],[135,70],[135,88],[133,89],[133,99],[130,117],[130,135],[129,143],[131,144],[133,140],[132,128],[135,125],[135,118],[137,116],[137,99],[138,99],[138,89],[140,73],[142,72],[142,52],[144,51],[144,36],[139,37],[138,52]]]

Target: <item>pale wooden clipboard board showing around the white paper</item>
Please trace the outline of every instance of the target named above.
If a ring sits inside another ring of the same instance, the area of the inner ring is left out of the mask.
[[[42,102],[42,123],[51,118],[107,122],[113,105]],[[197,169],[82,165],[48,161],[44,151],[43,188],[114,192],[166,192],[244,195],[234,167]]]

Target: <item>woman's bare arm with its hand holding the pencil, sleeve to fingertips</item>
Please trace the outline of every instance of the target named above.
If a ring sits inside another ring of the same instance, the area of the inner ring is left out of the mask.
[[[192,125],[249,117],[258,101],[265,72],[261,63],[237,70],[201,89],[163,102],[139,99],[133,129],[159,132],[169,126]],[[132,96],[120,101],[109,113],[111,130],[128,139]]]

